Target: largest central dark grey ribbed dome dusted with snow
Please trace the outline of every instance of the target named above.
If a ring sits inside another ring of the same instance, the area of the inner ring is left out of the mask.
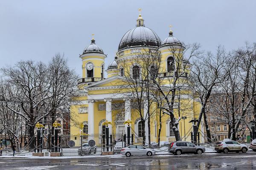
[[[150,28],[137,26],[127,31],[119,43],[118,50],[134,46],[160,47],[161,40]]]

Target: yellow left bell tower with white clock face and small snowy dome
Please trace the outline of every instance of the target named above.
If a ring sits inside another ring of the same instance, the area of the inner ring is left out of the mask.
[[[79,85],[88,85],[104,79],[106,55],[102,48],[96,45],[94,38],[91,44],[84,48],[80,58],[82,59],[82,78],[78,81]]]

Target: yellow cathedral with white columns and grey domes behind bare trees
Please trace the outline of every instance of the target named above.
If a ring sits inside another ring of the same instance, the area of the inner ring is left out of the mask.
[[[106,55],[102,48],[96,44],[92,38],[90,45],[84,48],[80,55],[82,60],[82,78],[78,80],[79,92],[74,96],[76,104],[70,108],[72,120],[70,122],[70,134],[75,135],[80,133],[79,125],[83,123],[83,132],[87,134],[105,133],[105,125],[103,123],[107,120],[111,122],[108,125],[110,133],[127,133],[127,126],[124,122],[131,120],[131,133],[134,134],[134,142],[142,142],[142,125],[140,115],[131,107],[131,97],[129,91],[124,91],[120,86],[124,82],[125,71],[123,65],[131,70],[134,79],[140,79],[141,68],[140,64],[131,62],[134,57],[143,55],[142,51],[154,49],[159,51],[161,56],[160,68],[161,72],[158,74],[162,79],[170,79],[173,76],[173,55],[169,48],[183,48],[183,43],[173,36],[173,32],[169,31],[169,37],[163,41],[150,28],[145,26],[144,19],[141,14],[137,18],[137,25],[135,28],[127,31],[122,37],[116,56],[113,61],[105,67]],[[182,60],[182,64],[191,66],[186,60]],[[106,69],[105,69],[106,68]],[[104,72],[107,72],[107,77]],[[187,77],[189,72],[184,74]],[[121,91],[121,93],[120,93]],[[182,112],[182,119],[178,124],[178,129],[182,140],[189,141],[190,132],[192,131],[192,119],[198,117],[201,105],[192,99],[191,96],[183,93],[181,100],[186,102],[186,106],[181,105],[181,109],[174,110],[176,118],[179,118]],[[157,105],[152,105],[157,110]],[[151,110],[151,108],[150,108]],[[148,107],[142,109],[143,114],[148,112]],[[185,114],[186,113],[186,114]],[[175,141],[174,131],[170,124],[170,116],[152,114],[150,119],[150,130],[148,129],[148,122],[145,121],[145,136],[148,142],[148,133],[150,132],[151,142],[158,141],[159,128],[161,127],[160,142]],[[180,116],[181,118],[181,116]],[[160,126],[161,125],[161,126]],[[200,127],[203,129],[203,127]],[[204,130],[202,130],[204,131]],[[203,135],[202,135],[203,138]]]

